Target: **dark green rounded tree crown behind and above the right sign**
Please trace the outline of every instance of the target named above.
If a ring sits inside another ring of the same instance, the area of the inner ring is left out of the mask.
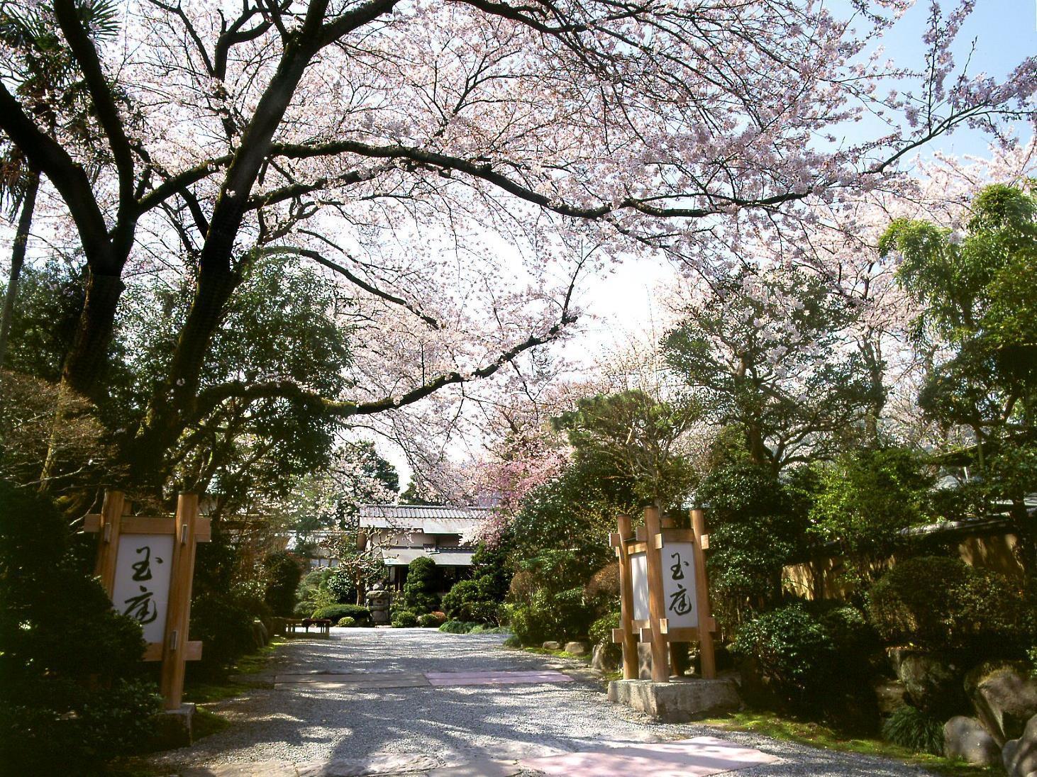
[[[667,361],[706,418],[740,431],[754,464],[777,473],[829,456],[860,428],[875,388],[846,342],[853,311],[820,279],[742,270],[681,313]]]

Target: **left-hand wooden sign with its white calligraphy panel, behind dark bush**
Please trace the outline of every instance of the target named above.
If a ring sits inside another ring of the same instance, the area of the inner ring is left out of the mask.
[[[144,630],[145,661],[162,661],[167,710],[184,696],[185,661],[201,658],[201,642],[188,640],[195,550],[208,542],[208,518],[198,516],[198,495],[180,494],[173,518],[128,515],[120,491],[106,491],[101,514],[83,528],[96,531],[96,574],[115,609]]]

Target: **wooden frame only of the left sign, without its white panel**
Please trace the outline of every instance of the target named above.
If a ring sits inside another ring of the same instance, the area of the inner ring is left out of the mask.
[[[212,539],[208,518],[198,515],[198,494],[183,493],[176,500],[176,514],[148,517],[129,515],[130,502],[121,491],[106,491],[101,513],[84,518],[83,530],[97,533],[95,574],[108,594],[115,589],[115,565],[122,535],[171,535],[173,557],[169,579],[164,637],[148,642],[145,661],[162,661],[162,695],[167,710],[178,710],[184,698],[186,661],[201,659],[201,642],[188,639],[191,621],[191,588],[194,581],[195,551],[199,542]]]

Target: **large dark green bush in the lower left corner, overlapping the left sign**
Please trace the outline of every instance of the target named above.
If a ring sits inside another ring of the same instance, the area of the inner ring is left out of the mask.
[[[146,745],[161,710],[140,626],[66,554],[48,499],[0,482],[0,771],[90,774]]]

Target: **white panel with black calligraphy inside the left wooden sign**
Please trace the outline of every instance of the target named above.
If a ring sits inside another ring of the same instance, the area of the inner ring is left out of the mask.
[[[166,632],[172,535],[121,535],[115,559],[112,603],[140,622],[145,642],[161,642]]]

